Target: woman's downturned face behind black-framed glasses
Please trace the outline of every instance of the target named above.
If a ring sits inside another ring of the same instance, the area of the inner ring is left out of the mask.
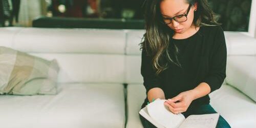
[[[163,18],[173,18],[177,15],[186,14],[189,10],[188,7],[189,4],[186,3],[186,0],[163,0],[160,2],[160,12]],[[195,9],[197,9],[197,4],[191,6],[185,22],[179,23],[172,19],[172,22],[167,24],[167,26],[173,29],[176,33],[184,33],[191,28],[191,25],[193,25]]]

